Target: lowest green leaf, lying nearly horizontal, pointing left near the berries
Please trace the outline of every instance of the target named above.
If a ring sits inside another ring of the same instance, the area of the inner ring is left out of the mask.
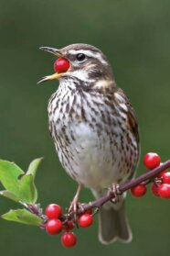
[[[6,220],[16,221],[27,225],[39,226],[42,223],[42,219],[40,217],[28,212],[26,209],[10,210],[1,217]]]

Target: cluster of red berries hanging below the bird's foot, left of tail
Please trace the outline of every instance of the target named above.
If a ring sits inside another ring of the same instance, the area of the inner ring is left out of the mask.
[[[46,208],[46,216],[48,221],[46,222],[46,230],[49,235],[58,235],[64,230],[64,234],[61,236],[61,244],[64,247],[73,247],[77,242],[77,237],[71,229],[75,227],[75,223],[72,220],[67,219],[62,215],[61,207],[55,204],[50,204]],[[86,211],[78,218],[78,225],[81,228],[90,227],[93,222],[92,211]]]

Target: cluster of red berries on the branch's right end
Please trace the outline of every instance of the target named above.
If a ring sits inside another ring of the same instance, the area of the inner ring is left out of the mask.
[[[143,158],[143,164],[147,169],[152,171],[154,168],[160,166],[162,163],[161,158],[158,154],[147,153]],[[148,182],[134,186],[131,189],[132,195],[136,197],[141,197],[145,195],[147,192],[146,184],[149,183],[152,183],[151,191],[155,196],[170,198],[170,173],[168,173],[168,170],[162,171]]]

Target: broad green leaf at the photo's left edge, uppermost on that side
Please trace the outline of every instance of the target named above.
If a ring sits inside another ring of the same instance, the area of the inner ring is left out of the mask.
[[[0,182],[5,189],[19,197],[18,177],[24,172],[14,162],[0,161]]]

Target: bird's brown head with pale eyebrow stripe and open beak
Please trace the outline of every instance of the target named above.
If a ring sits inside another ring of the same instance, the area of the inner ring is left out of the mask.
[[[112,69],[106,57],[101,50],[88,44],[72,44],[62,49],[50,47],[41,47],[58,58],[67,60],[69,65],[64,72],[56,72],[52,75],[44,77],[39,83],[48,80],[74,79],[82,81],[84,85],[87,83],[98,84],[102,82],[112,82]],[[102,83],[103,86],[104,83]]]

